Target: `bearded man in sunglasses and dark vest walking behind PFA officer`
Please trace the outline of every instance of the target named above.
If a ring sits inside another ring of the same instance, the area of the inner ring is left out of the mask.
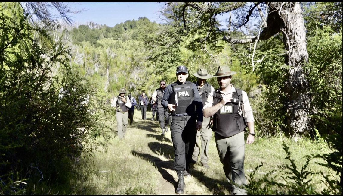
[[[157,88],[151,98],[152,100],[155,101],[157,104],[157,116],[158,116],[158,121],[159,121],[159,126],[161,127],[162,130],[162,135],[165,134],[165,132],[168,132],[168,109],[165,109],[162,105],[162,98],[164,95],[164,90],[166,89],[166,81],[161,80],[159,81],[159,88]]]

